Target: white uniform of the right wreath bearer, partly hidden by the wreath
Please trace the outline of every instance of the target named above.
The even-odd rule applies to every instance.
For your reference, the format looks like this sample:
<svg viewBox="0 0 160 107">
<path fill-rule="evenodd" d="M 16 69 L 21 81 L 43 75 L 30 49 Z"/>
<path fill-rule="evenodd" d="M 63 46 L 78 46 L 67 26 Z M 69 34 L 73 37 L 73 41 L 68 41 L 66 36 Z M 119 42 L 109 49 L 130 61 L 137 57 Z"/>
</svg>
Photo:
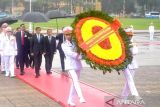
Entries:
<svg viewBox="0 0 160 107">
<path fill-rule="evenodd" d="M 133 60 L 131 64 L 129 64 L 127 68 L 124 70 L 126 83 L 125 83 L 124 89 L 121 94 L 123 98 L 127 98 L 130 92 L 131 92 L 131 95 L 133 96 L 139 96 L 135 83 L 134 83 L 134 79 L 133 79 L 135 69 L 138 68 L 138 64 L 135 60 L 135 55 L 138 53 L 138 47 L 136 46 L 136 44 L 133 44 L 133 47 L 131 48 L 131 52 L 133 55 Z"/>
</svg>

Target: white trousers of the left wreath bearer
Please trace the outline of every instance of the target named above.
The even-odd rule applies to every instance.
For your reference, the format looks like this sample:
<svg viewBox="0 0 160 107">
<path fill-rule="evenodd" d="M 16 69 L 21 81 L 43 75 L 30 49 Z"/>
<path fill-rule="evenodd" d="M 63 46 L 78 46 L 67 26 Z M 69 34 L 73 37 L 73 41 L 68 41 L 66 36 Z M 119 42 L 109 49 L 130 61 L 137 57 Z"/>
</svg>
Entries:
<svg viewBox="0 0 160 107">
<path fill-rule="evenodd" d="M 70 93 L 69 93 L 69 97 L 68 97 L 68 101 L 72 101 L 73 100 L 73 96 L 75 94 L 75 92 L 77 92 L 77 95 L 79 98 L 83 98 L 82 95 L 82 91 L 80 88 L 80 84 L 79 84 L 79 77 L 80 77 L 80 70 L 79 71 L 75 71 L 75 70 L 69 70 L 70 76 L 72 78 L 72 84 L 70 87 Z"/>
</svg>

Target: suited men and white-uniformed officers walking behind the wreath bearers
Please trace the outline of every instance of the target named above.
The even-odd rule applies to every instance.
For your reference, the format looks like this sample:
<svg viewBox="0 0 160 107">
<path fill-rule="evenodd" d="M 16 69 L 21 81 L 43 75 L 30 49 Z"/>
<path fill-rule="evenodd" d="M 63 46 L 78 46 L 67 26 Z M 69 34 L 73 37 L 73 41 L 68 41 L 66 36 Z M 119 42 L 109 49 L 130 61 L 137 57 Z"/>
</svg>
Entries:
<svg viewBox="0 0 160 107">
<path fill-rule="evenodd" d="M 10 38 L 11 36 L 11 38 Z M 12 44 L 14 39 L 14 44 Z M 56 45 L 56 40 L 58 40 L 58 45 Z M 7 42 L 8 44 L 7 44 Z M 41 28 L 36 27 L 35 33 L 31 34 L 25 29 L 25 25 L 21 24 L 20 27 L 17 28 L 15 32 L 13 29 L 8 26 L 7 23 L 2 24 L 1 33 L 0 33 L 0 52 L 1 52 L 1 71 L 13 71 L 8 70 L 7 66 L 14 66 L 14 64 L 6 63 L 5 58 L 3 57 L 6 53 L 13 54 L 13 60 L 16 62 L 16 67 L 20 69 L 20 75 L 24 75 L 24 67 L 32 67 L 35 68 L 35 77 L 38 78 L 40 76 L 40 66 L 42 62 L 42 55 L 45 57 L 45 69 L 47 74 L 52 74 L 52 61 L 54 54 L 56 53 L 56 49 L 59 50 L 62 71 L 65 71 L 64 68 L 64 52 L 61 48 L 61 44 L 64 41 L 63 33 L 56 34 L 52 31 L 52 29 L 47 29 L 46 35 L 44 36 L 41 33 Z M 9 46 L 11 45 L 11 46 Z M 13 47 L 15 46 L 15 47 Z M 14 49 L 8 49 L 13 47 Z M 14 50 L 14 52 L 12 52 Z M 16 56 L 16 57 L 15 57 Z M 14 73 L 5 73 L 6 76 L 14 77 Z"/>
</svg>

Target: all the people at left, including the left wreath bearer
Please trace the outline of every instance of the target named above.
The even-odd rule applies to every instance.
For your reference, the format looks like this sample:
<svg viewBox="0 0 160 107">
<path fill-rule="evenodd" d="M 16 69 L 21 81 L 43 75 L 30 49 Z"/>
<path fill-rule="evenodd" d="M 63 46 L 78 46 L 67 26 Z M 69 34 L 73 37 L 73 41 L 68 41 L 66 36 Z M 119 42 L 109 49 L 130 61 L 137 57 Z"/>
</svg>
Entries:
<svg viewBox="0 0 160 107">
<path fill-rule="evenodd" d="M 62 72 L 68 71 L 73 80 L 68 104 L 75 106 L 73 101 L 75 92 L 77 92 L 80 103 L 85 103 L 78 82 L 82 69 L 82 57 L 72 42 L 72 30 L 70 26 L 64 27 L 63 33 L 56 35 L 52 29 L 47 29 L 44 36 L 40 27 L 36 27 L 35 33 L 31 34 L 25 29 L 24 24 L 21 24 L 16 32 L 13 32 L 7 23 L 2 24 L 0 32 L 1 71 L 5 72 L 5 76 L 14 77 L 14 62 L 16 62 L 16 67 L 20 67 L 20 75 L 25 74 L 24 66 L 30 66 L 35 68 L 35 78 L 38 78 L 42 55 L 44 55 L 46 73 L 52 74 L 52 61 L 56 49 L 58 49 Z M 58 44 L 56 44 L 56 40 L 58 40 Z"/>
</svg>

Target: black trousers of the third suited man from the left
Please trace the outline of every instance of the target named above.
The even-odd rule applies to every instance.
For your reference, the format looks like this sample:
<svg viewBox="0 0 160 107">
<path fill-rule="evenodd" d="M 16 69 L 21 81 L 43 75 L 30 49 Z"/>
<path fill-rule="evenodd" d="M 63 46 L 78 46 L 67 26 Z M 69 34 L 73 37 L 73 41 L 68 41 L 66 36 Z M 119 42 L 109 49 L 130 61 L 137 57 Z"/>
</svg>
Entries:
<svg viewBox="0 0 160 107">
<path fill-rule="evenodd" d="M 52 61 L 53 61 L 54 54 L 47 53 L 44 55 L 44 57 L 45 57 L 46 72 L 50 72 L 52 68 Z"/>
</svg>

